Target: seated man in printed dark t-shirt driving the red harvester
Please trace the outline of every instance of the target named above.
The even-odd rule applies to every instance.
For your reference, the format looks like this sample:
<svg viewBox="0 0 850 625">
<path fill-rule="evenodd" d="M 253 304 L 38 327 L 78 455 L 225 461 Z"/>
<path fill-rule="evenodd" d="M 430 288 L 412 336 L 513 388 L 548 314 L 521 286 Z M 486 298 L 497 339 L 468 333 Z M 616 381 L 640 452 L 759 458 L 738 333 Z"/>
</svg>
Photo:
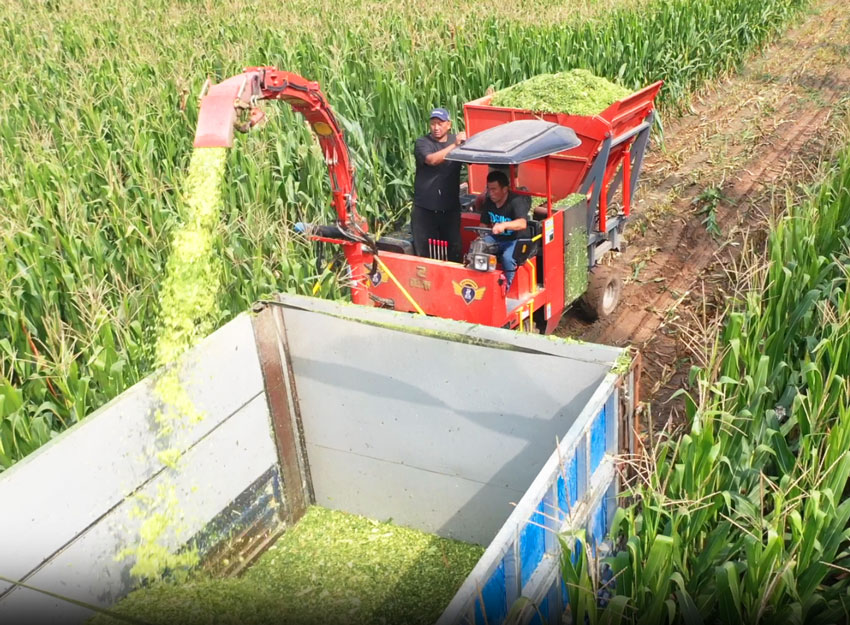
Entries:
<svg viewBox="0 0 850 625">
<path fill-rule="evenodd" d="M 475 207 L 481 212 L 481 224 L 492 226 L 493 234 L 488 234 L 484 240 L 498 246 L 497 254 L 505 272 L 507 293 L 516 275 L 514 248 L 517 232 L 528 226 L 528 198 L 510 190 L 505 172 L 491 171 L 487 174 L 487 193 L 476 198 Z"/>
</svg>

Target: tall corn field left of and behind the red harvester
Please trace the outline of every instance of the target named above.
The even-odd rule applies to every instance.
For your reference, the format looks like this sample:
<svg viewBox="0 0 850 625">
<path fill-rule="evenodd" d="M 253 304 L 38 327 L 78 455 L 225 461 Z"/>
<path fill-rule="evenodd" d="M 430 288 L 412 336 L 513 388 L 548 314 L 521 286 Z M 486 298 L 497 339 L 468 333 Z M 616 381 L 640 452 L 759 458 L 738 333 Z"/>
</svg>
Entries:
<svg viewBox="0 0 850 625">
<path fill-rule="evenodd" d="M 320 81 L 347 133 L 360 210 L 380 229 L 406 219 L 412 144 L 432 106 L 459 115 L 490 86 L 580 67 L 630 88 L 664 79 L 673 113 L 804 4 L 3 3 L 0 470 L 153 368 L 207 77 L 276 64 Z M 227 155 L 221 284 L 208 285 L 216 323 L 275 291 L 342 295 L 291 234 L 330 217 L 321 157 L 289 111 L 269 113 Z"/>
</svg>

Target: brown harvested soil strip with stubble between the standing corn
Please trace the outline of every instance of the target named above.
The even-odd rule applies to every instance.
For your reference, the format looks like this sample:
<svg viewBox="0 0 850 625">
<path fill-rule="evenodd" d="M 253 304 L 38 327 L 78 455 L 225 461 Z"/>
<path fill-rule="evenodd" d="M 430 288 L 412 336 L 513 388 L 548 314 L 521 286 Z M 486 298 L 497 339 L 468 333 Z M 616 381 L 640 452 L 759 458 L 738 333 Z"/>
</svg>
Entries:
<svg viewBox="0 0 850 625">
<path fill-rule="evenodd" d="M 608 262 L 625 286 L 618 308 L 587 322 L 567 313 L 558 335 L 632 345 L 641 401 L 656 428 L 681 422 L 692 364 L 722 315 L 741 250 L 758 250 L 790 190 L 816 182 L 847 138 L 850 11 L 821 0 L 741 70 L 665 124 L 641 174 L 627 249 Z M 609 255 L 611 256 L 611 255 Z"/>
</svg>

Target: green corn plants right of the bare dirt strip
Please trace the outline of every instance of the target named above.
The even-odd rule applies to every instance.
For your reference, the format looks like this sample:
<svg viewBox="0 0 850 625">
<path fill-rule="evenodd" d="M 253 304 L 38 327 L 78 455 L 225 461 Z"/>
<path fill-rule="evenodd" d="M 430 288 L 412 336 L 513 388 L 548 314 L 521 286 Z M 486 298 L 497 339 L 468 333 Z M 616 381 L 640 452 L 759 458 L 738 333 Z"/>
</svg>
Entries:
<svg viewBox="0 0 850 625">
<path fill-rule="evenodd" d="M 605 618 L 838 623 L 850 610 L 850 152 L 742 273 L 688 432 L 641 467 Z M 565 543 L 565 546 L 569 546 Z M 563 561 L 573 622 L 596 623 L 585 554 Z M 572 597 L 571 597 L 572 598 Z"/>
</svg>

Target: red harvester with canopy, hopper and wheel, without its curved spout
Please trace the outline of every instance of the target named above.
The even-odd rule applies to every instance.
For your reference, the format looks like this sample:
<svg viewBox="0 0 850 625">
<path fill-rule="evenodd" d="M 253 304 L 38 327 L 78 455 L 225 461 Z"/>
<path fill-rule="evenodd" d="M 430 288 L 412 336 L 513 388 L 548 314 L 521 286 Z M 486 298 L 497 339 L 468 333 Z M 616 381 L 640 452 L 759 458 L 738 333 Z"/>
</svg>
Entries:
<svg viewBox="0 0 850 625">
<path fill-rule="evenodd" d="M 611 251 L 625 250 L 623 234 L 662 84 L 648 85 L 598 115 L 497 107 L 490 104 L 492 95 L 464 104 L 469 139 L 446 156 L 469 165 L 461 200 L 466 207 L 461 213 L 464 254 L 481 221 L 471 203 L 486 190 L 491 169 L 504 167 L 511 192 L 530 200 L 511 289 L 502 292 L 501 272 L 492 264 L 446 262 L 440 253 L 445 242 L 437 241 L 437 253 L 429 251 L 429 258 L 421 259 L 412 256 L 408 241 L 385 238 L 377 245 L 379 277 L 365 283 L 371 303 L 544 334 L 554 332 L 564 312 L 579 301 L 591 319 L 610 315 L 622 279 L 601 261 Z M 552 141 L 549 135 L 558 129 L 569 131 L 574 140 Z M 575 196 L 581 197 L 568 201 Z M 377 255 L 367 252 L 364 261 L 377 262 Z M 464 286 L 474 298 L 464 297 Z"/>
</svg>

